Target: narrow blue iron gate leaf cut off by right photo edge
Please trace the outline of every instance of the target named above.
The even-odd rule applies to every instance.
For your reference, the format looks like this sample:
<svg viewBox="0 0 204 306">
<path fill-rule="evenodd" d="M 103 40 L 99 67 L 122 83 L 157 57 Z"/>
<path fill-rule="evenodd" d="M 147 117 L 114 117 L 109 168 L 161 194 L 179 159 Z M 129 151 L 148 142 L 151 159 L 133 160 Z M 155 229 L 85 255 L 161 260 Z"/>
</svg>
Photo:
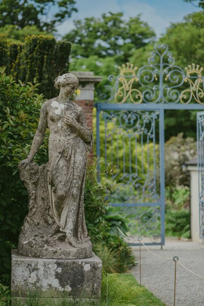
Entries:
<svg viewBox="0 0 204 306">
<path fill-rule="evenodd" d="M 197 161 L 200 238 L 204 239 L 204 111 L 197 113 Z"/>
</svg>

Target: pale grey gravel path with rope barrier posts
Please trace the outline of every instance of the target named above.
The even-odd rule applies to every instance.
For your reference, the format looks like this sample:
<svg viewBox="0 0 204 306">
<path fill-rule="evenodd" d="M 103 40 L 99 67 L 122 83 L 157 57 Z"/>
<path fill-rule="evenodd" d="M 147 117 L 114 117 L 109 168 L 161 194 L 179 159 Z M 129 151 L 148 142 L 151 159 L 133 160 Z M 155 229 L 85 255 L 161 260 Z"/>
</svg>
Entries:
<svg viewBox="0 0 204 306">
<path fill-rule="evenodd" d="M 193 272 L 204 276 L 204 244 L 166 239 L 165 246 L 150 246 L 160 257 L 178 256 L 180 262 Z M 133 247 L 139 263 L 139 247 Z M 173 306 L 174 262 L 164 261 L 150 254 L 143 246 L 141 251 L 142 285 L 168 306 Z M 139 282 L 139 265 L 131 273 Z M 204 279 L 186 271 L 177 264 L 176 306 L 204 306 Z"/>
</svg>

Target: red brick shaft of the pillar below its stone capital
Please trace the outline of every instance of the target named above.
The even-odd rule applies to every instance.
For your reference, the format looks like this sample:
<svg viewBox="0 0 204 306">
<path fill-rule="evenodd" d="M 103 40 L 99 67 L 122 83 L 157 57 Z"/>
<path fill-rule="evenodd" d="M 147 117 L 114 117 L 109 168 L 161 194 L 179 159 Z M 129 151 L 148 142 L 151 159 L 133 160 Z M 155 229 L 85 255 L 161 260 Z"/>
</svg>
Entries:
<svg viewBox="0 0 204 306">
<path fill-rule="evenodd" d="M 86 124 L 93 131 L 93 100 L 75 100 L 74 102 L 82 107 L 86 117 Z M 93 151 L 89 153 L 88 159 L 93 161 Z"/>
</svg>

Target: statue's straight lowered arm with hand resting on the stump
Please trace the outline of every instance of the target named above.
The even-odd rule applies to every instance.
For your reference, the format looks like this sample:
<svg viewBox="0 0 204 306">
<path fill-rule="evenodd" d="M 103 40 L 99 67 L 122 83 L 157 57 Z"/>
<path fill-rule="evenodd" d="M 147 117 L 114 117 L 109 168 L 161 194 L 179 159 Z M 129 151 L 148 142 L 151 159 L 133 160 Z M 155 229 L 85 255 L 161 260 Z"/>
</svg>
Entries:
<svg viewBox="0 0 204 306">
<path fill-rule="evenodd" d="M 32 162 L 34 156 L 36 155 L 39 147 L 41 146 L 41 144 L 43 142 L 46 128 L 47 128 L 47 110 L 46 110 L 46 104 L 44 103 L 42 105 L 42 108 L 41 108 L 40 119 L 39 119 L 39 123 L 38 123 L 38 129 L 37 129 L 37 131 L 35 133 L 35 136 L 33 138 L 30 153 L 29 153 L 27 159 L 20 162 L 20 164 L 19 164 L 20 166 L 23 165 L 23 164 L 25 166 L 28 163 Z"/>
</svg>

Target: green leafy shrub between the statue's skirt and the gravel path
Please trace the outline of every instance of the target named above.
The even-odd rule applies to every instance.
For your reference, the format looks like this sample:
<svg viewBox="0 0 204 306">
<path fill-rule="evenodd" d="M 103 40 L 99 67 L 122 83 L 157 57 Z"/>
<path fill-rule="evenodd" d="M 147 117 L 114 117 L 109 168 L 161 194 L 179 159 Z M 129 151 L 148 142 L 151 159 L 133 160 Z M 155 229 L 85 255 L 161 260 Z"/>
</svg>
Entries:
<svg viewBox="0 0 204 306">
<path fill-rule="evenodd" d="M 112 168 L 105 170 L 108 174 Z M 115 183 L 98 183 L 96 163 L 89 165 L 85 185 L 84 205 L 88 234 L 93 249 L 107 272 L 123 273 L 135 265 L 131 247 L 118 237 L 117 227 L 127 231 L 125 219 L 108 206 L 107 193 L 115 190 Z"/>
</svg>

